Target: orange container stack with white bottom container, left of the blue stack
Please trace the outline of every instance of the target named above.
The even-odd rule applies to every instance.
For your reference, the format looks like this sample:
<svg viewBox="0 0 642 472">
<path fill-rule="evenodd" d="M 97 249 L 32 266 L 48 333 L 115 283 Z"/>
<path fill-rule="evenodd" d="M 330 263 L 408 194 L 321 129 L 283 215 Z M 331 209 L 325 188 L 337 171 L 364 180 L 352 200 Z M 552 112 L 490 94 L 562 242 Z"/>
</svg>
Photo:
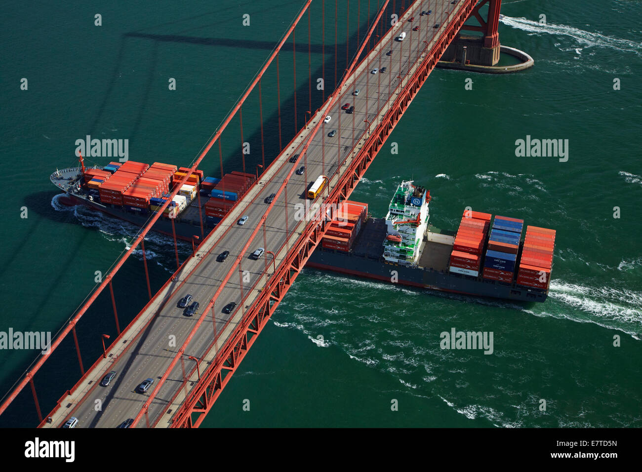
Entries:
<svg viewBox="0 0 642 472">
<path fill-rule="evenodd" d="M 450 254 L 450 272 L 478 277 L 490 217 L 490 213 L 464 211 Z"/>
</svg>

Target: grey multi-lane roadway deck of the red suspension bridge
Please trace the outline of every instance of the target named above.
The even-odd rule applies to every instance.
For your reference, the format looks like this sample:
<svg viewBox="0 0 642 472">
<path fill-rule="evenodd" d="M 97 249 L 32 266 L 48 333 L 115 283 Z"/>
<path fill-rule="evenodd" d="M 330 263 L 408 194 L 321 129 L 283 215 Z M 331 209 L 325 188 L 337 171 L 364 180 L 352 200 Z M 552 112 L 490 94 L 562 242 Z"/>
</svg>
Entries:
<svg viewBox="0 0 642 472">
<path fill-rule="evenodd" d="M 309 184 L 318 175 L 324 173 L 331 179 L 331 186 L 336 185 L 338 180 L 337 167 L 340 162 L 340 173 L 351 162 L 351 159 L 360 150 L 368 134 L 368 123 L 372 123 L 372 129 L 377 122 L 377 103 L 381 105 L 379 116 L 383 116 L 392 103 L 392 94 L 399 84 L 398 76 L 408 73 L 412 76 L 413 66 L 417 56 L 426 46 L 424 40 L 429 42 L 428 50 L 433 46 L 438 33 L 444 28 L 433 28 L 435 23 L 443 25 L 447 22 L 448 15 L 444 10 L 451 10 L 451 16 L 458 11 L 461 2 L 452 5 L 449 0 L 424 0 L 417 1 L 413 7 L 399 19 L 399 22 L 383 37 L 377 47 L 369 55 L 369 60 L 362 62 L 355 73 L 349 78 L 345 86 L 339 92 L 340 98 L 336 100 L 329 115 L 331 121 L 324 123 L 311 141 L 307 155 L 307 181 L 305 175 L 293 174 L 288 183 L 287 206 L 284 195 L 275 202 L 266 220 L 266 245 L 263 243 L 263 231 L 257 232 L 247 254 L 241 254 L 241 268 L 248 271 L 248 279 L 243 282 L 243 294 L 247 297 L 241 306 L 241 286 L 238 275 L 232 275 L 230 280 L 221 290 L 218 300 L 214 304 L 216 316 L 216 329 L 223 328 L 219 341 L 214 344 L 213 323 L 206 320 L 184 354 L 184 362 L 178 362 L 168 380 L 162 385 L 159 394 L 150 405 L 148 418 L 150 426 L 168 427 L 171 424 L 171 417 L 175 414 L 178 406 L 186 397 L 189 389 L 195 385 L 197 372 L 195 362 L 188 360 L 187 355 L 203 358 L 200 363 L 200 372 L 203 372 L 209 362 L 212 362 L 218 349 L 225 344 L 225 340 L 232 333 L 234 328 L 243 317 L 243 313 L 259 293 L 259 289 L 265 286 L 266 276 L 261 275 L 265 269 L 266 262 L 272 265 L 272 258 L 265 254 L 259 260 L 249 258 L 250 253 L 257 247 L 265 247 L 276 254 L 276 264 L 286 256 L 288 247 L 299 238 L 305 221 L 296 221 L 295 213 L 297 204 L 304 204 L 305 194 Z M 422 10 L 432 10 L 431 15 L 420 15 Z M 442 14 L 440 14 L 442 13 Z M 415 17 L 409 22 L 410 17 Z M 412 31 L 412 28 L 419 26 L 419 31 Z M 402 41 L 394 40 L 401 31 L 406 32 L 406 38 Z M 392 55 L 386 53 L 392 49 Z M 419 60 L 421 62 L 421 59 Z M 377 67 L 387 67 L 385 73 L 372 74 L 370 71 Z M 410 71 L 408 68 L 412 67 Z M 354 83 L 351 79 L 354 77 Z M 403 79 L 402 79 L 403 80 Z M 367 85 L 367 82 L 369 85 Z M 403 84 L 402 84 L 403 85 Z M 354 89 L 360 89 L 358 96 L 352 96 Z M 377 89 L 380 94 L 377 97 Z M 367 94 L 367 91 L 369 92 Z M 377 98 L 379 100 L 377 100 Z M 330 100 L 331 97 L 328 98 Z M 353 116 L 341 110 L 343 103 L 349 102 L 354 105 L 354 128 Z M 327 103 L 327 102 L 326 102 Z M 367 105 L 366 105 L 367 103 Z M 322 107 L 320 110 L 324 110 Z M 339 118 L 341 114 L 341 127 Z M 216 292 L 218 286 L 229 272 L 230 265 L 234 258 L 239 256 L 239 251 L 252 233 L 259 225 L 261 217 L 265 214 L 268 205 L 264 199 L 271 193 L 275 193 L 281 186 L 288 171 L 292 166 L 303 165 L 304 156 L 300 156 L 299 164 L 291 164 L 288 160 L 297 153 L 307 139 L 310 130 L 319 119 L 323 119 L 322 111 L 312 117 L 306 127 L 300 131 L 297 138 L 290 143 L 290 146 L 283 150 L 263 175 L 259 184 L 254 186 L 247 195 L 232 210 L 231 214 L 210 234 L 202 243 L 196 256 L 184 265 L 177 278 L 166 288 L 160 290 L 155 299 L 150 303 L 145 313 L 137 320 L 130 332 L 125 333 L 118 345 L 110 346 L 108 357 L 100 360 L 87 374 L 85 379 L 76 386 L 76 389 L 62 399 L 60 408 L 52 416 L 53 421 L 45 424 L 45 427 L 60 427 L 65 420 L 71 416 L 78 418 L 77 427 L 103 427 L 113 428 L 128 418 L 134 418 L 140 411 L 148 394 L 156 386 L 150 387 L 147 394 L 139 394 L 135 391 L 146 378 L 159 380 L 171 360 L 175 356 L 178 347 L 182 345 L 189 331 L 198 319 L 185 317 L 183 310 L 177 308 L 178 300 L 190 293 L 195 301 L 200 302 L 204 307 L 211 296 Z M 334 137 L 328 137 L 330 130 L 338 132 Z M 340 133 L 339 133 L 340 130 Z M 354 141 L 353 141 L 354 140 Z M 354 147 L 352 144 L 354 143 Z M 325 152 L 325 166 L 322 164 L 322 155 Z M 322 195 L 325 194 L 325 191 Z M 322 197 L 318 197 L 320 202 Z M 283 231 L 286 226 L 286 212 L 288 212 L 288 226 L 291 231 L 290 238 L 286 241 L 286 233 Z M 238 225 L 238 219 L 248 216 L 245 225 Z M 223 263 L 216 261 L 216 256 L 224 250 L 230 251 L 230 256 Z M 268 258 L 267 261 L 265 258 Z M 237 269 L 238 272 L 238 269 Z M 272 272 L 272 268 L 268 273 Z M 248 290 L 252 287 L 248 295 Z M 228 302 L 236 302 L 236 309 L 229 315 L 222 313 L 223 306 Z M 211 317 L 211 313 L 207 313 Z M 175 337 L 175 343 L 170 344 L 171 337 Z M 108 387 L 98 385 L 101 378 L 109 371 L 117 371 L 116 378 Z M 187 382 L 184 384 L 184 376 Z M 97 400 L 100 400 L 100 408 Z M 96 411 L 98 409 L 98 411 Z M 144 419 L 137 424 L 138 427 L 145 427 Z"/>
</svg>

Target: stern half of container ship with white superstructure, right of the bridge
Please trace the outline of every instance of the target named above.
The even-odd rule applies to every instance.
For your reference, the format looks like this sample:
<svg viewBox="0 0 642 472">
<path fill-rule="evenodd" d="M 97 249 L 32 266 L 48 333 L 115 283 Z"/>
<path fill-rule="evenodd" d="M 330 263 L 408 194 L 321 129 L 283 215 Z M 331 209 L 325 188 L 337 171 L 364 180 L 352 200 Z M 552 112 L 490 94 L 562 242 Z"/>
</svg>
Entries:
<svg viewBox="0 0 642 472">
<path fill-rule="evenodd" d="M 546 300 L 555 230 L 465 209 L 457 231 L 446 231 L 429 224 L 429 201 L 430 192 L 413 182 L 399 184 L 385 218 L 345 200 L 306 267 L 476 297 Z"/>
</svg>

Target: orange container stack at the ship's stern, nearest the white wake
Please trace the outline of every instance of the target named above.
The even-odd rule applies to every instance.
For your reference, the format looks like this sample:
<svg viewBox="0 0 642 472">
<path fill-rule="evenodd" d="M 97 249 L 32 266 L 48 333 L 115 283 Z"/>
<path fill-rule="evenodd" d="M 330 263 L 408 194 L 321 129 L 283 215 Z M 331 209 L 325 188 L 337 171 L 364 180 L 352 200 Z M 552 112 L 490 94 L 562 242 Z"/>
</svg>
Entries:
<svg viewBox="0 0 642 472">
<path fill-rule="evenodd" d="M 524 248 L 519 259 L 517 284 L 548 290 L 554 248 L 554 229 L 527 226 Z"/>
</svg>

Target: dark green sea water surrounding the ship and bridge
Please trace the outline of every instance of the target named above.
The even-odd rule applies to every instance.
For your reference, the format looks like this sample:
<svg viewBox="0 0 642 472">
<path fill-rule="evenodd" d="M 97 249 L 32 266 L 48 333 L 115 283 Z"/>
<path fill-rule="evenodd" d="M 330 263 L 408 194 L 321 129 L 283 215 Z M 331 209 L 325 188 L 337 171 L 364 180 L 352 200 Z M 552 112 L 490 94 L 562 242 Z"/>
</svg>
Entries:
<svg viewBox="0 0 642 472">
<path fill-rule="evenodd" d="M 128 139 L 134 161 L 190 164 L 301 5 L 4 5 L 0 331 L 56 333 L 96 286 L 96 271 L 105 274 L 136 234 L 58 202 L 49 174 L 74 165 L 76 139 Z M 321 47 L 321 2 L 312 8 L 309 102 L 307 17 L 295 32 L 298 127 L 308 104 L 322 103 L 314 81 L 323 60 L 325 96 L 334 83 L 334 46 Z M 203 426 L 641 426 L 642 6 L 507 0 L 501 11 L 501 43 L 532 55 L 535 66 L 507 75 L 433 71 L 351 198 L 381 217 L 397 184 L 413 179 L 431 191 L 436 227 L 456 229 L 471 206 L 556 229 L 548 300 L 479 300 L 305 269 Z M 96 13 L 102 26 L 94 25 Z M 339 76 L 346 50 L 349 58 L 356 50 L 357 25 L 361 36 L 367 27 L 367 1 L 351 1 L 348 21 L 340 20 Z M 297 129 L 292 64 L 290 40 L 279 64 L 284 143 Z M 266 162 L 278 151 L 275 83 L 272 68 L 262 80 Z M 243 141 L 252 144 L 248 171 L 263 161 L 258 109 L 253 93 L 243 107 L 243 139 L 238 116 L 223 135 L 225 171 L 241 170 Z M 527 135 L 568 139 L 568 161 L 516 157 L 516 140 Z M 201 167 L 218 175 L 218 149 Z M 157 289 L 175 270 L 173 245 L 152 235 L 146 249 Z M 179 243 L 181 260 L 190 249 Z M 122 327 L 147 300 L 139 252 L 114 290 Z M 85 316 L 78 338 L 89 367 L 102 352 L 101 334 L 115 337 L 108 293 Z M 440 349 L 440 333 L 451 328 L 492 331 L 494 352 Z M 3 394 L 35 357 L 0 351 Z M 43 413 L 78 378 L 69 339 L 35 377 Z M 16 405 L 0 425 L 37 424 L 29 388 Z"/>
</svg>

